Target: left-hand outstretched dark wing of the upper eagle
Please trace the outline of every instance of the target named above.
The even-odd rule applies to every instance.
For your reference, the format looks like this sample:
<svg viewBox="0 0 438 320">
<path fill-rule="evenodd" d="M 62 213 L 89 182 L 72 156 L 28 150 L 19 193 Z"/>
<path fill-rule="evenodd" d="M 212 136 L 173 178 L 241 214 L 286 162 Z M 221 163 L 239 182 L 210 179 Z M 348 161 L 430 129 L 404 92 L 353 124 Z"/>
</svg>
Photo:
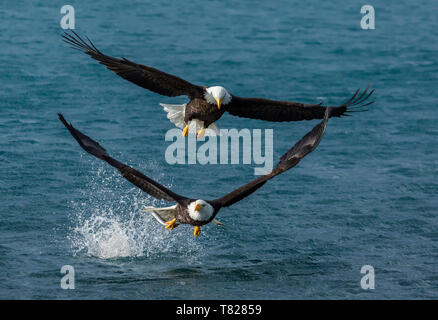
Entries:
<svg viewBox="0 0 438 320">
<path fill-rule="evenodd" d="M 191 84 L 174 75 L 149 66 L 137 64 L 125 58 L 118 59 L 107 56 L 100 52 L 90 39 L 87 38 L 89 42 L 87 43 L 73 30 L 72 33 L 73 35 L 65 32 L 62 35 L 66 43 L 74 49 L 85 52 L 109 70 L 114 71 L 117 75 L 140 87 L 168 97 L 186 95 L 194 98 L 203 96 L 204 89 L 201 86 Z"/>
</svg>

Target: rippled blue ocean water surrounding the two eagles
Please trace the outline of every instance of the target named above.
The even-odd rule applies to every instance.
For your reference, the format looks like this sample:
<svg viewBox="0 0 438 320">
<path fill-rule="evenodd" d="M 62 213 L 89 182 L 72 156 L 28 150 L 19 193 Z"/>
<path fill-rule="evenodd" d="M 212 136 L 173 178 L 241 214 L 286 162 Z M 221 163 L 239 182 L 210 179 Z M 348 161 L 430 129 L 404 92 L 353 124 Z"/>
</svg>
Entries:
<svg viewBox="0 0 438 320">
<path fill-rule="evenodd" d="M 160 102 L 61 41 L 64 1 L 0 4 L 0 298 L 396 299 L 438 297 L 438 5 L 432 1 L 74 1 L 103 52 L 240 96 L 337 104 L 296 168 L 221 211 L 225 227 L 164 230 L 162 203 L 85 154 L 57 112 L 178 193 L 215 198 L 254 165 L 169 165 Z M 360 28 L 371 4 L 376 29 Z M 274 159 L 318 121 L 224 115 L 274 129 Z M 60 269 L 75 268 L 63 290 Z M 375 289 L 360 286 L 361 267 Z"/>
</svg>

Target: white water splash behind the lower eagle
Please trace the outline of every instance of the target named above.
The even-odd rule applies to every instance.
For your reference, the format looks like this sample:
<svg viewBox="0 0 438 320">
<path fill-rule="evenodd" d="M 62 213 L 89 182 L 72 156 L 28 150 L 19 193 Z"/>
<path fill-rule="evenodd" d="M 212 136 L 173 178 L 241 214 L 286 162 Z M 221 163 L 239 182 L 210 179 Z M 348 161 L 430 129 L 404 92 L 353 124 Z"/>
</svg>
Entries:
<svg viewBox="0 0 438 320">
<path fill-rule="evenodd" d="M 74 254 L 112 259 L 176 253 L 199 255 L 202 244 L 184 226 L 164 230 L 143 206 L 159 205 L 111 168 L 99 167 L 81 190 L 84 202 L 72 202 L 68 239 Z"/>
</svg>

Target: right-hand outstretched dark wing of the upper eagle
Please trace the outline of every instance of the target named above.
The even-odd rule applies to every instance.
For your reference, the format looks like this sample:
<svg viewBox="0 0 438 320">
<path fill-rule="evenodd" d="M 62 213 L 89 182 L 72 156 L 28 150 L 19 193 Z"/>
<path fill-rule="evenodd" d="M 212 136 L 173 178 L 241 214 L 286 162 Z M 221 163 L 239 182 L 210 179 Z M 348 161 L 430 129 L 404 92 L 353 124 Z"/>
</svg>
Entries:
<svg viewBox="0 0 438 320">
<path fill-rule="evenodd" d="M 358 112 L 364 106 L 374 101 L 366 102 L 374 90 L 368 93 L 367 88 L 362 94 L 359 89 L 346 102 L 337 107 L 332 107 L 331 117 L 348 115 L 349 112 Z M 260 119 L 268 121 L 301 121 L 324 118 L 327 107 L 320 104 L 303 104 L 299 102 L 275 101 L 259 98 L 241 98 L 232 96 L 231 102 L 224 106 L 230 114 L 238 117 Z"/>
</svg>

